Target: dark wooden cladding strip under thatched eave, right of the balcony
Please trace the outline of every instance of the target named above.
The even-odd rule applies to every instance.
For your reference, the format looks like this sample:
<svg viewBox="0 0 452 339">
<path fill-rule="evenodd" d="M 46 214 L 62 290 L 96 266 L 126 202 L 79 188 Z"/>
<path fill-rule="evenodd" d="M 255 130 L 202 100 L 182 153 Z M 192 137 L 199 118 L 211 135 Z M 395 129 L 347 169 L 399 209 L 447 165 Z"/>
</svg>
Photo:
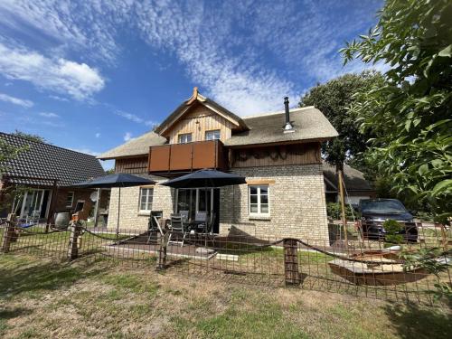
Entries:
<svg viewBox="0 0 452 339">
<path fill-rule="evenodd" d="M 231 167 L 320 164 L 320 143 L 230 149 Z"/>
</svg>

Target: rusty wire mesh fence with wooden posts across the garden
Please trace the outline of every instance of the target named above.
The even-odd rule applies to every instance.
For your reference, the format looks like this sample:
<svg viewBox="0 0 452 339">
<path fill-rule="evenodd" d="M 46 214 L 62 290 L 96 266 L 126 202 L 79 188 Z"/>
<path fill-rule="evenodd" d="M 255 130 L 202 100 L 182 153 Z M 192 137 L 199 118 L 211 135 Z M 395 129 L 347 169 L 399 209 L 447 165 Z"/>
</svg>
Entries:
<svg viewBox="0 0 452 339">
<path fill-rule="evenodd" d="M 448 246 L 452 235 L 450 229 L 435 225 L 418 224 L 417 228 L 417 241 L 394 245 L 357 236 L 353 227 L 345 242 L 340 236 L 329 240 L 258 239 L 87 228 L 80 223 L 67 230 L 43 224 L 24 229 L 5 223 L 0 228 L 0 243 L 3 252 L 60 261 L 100 258 L 199 278 L 431 303 L 431 291 L 438 284 L 451 286 L 452 252 Z M 413 256 L 430 267 L 419 266 L 410 259 Z"/>
</svg>

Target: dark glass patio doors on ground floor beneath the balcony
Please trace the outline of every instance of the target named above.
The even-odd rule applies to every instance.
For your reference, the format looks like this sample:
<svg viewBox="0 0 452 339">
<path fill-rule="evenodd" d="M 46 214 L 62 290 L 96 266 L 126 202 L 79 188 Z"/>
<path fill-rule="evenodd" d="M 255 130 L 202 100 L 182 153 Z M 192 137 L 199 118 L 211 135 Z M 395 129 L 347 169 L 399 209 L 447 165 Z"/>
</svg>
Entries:
<svg viewBox="0 0 452 339">
<path fill-rule="evenodd" d="M 215 213 L 213 232 L 218 233 L 220 218 L 220 190 L 218 188 L 182 188 L 176 190 L 176 211 L 188 211 L 189 218 L 195 219 L 196 212 Z"/>
</svg>

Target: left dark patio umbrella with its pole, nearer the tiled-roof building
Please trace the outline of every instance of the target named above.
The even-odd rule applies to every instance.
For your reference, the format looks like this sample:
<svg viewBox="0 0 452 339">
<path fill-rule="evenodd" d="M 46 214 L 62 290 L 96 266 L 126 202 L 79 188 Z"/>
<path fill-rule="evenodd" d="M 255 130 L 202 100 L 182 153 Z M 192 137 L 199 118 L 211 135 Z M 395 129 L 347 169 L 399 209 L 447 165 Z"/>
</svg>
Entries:
<svg viewBox="0 0 452 339">
<path fill-rule="evenodd" d="M 155 184 L 155 181 L 142 178 L 132 174 L 108 174 L 97 178 L 87 180 L 82 183 L 73 184 L 72 187 L 78 188 L 119 188 L 118 194 L 118 222 L 117 234 L 119 233 L 119 213 L 121 210 L 121 187 L 134 187 L 142 184 Z"/>
</svg>

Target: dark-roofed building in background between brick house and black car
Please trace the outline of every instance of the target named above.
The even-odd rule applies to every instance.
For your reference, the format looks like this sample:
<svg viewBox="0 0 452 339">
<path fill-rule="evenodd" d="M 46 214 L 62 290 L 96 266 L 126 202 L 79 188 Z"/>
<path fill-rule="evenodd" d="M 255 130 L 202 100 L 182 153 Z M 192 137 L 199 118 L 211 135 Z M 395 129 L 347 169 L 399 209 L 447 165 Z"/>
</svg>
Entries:
<svg viewBox="0 0 452 339">
<path fill-rule="evenodd" d="M 324 162 L 326 202 L 339 202 L 337 174 L 335 166 Z M 375 198 L 375 190 L 364 178 L 363 172 L 344 165 L 345 202 L 353 206 L 358 205 L 361 199 Z"/>
</svg>

